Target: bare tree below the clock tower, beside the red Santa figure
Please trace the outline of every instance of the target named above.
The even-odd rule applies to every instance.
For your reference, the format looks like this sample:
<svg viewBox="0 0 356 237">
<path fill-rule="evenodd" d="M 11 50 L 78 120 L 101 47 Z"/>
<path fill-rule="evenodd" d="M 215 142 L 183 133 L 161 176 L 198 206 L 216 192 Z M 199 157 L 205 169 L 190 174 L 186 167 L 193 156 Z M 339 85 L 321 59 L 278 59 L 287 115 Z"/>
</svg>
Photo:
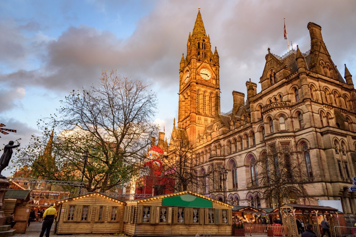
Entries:
<svg viewBox="0 0 356 237">
<path fill-rule="evenodd" d="M 185 130 L 174 128 L 167 156 L 163 157 L 162 162 L 162 178 L 173 181 L 174 185 L 169 184 L 169 188 L 174 192 L 205 189 L 206 180 L 211 177 L 213 170 L 200 173 L 195 151 L 195 142 L 189 140 Z"/>
</svg>

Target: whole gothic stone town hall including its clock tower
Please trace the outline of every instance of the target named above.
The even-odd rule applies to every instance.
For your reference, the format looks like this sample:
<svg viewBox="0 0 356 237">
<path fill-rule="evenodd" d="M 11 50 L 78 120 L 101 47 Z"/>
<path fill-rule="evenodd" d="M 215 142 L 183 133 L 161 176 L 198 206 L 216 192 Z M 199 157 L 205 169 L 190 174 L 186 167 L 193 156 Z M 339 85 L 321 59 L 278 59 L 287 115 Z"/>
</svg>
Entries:
<svg viewBox="0 0 356 237">
<path fill-rule="evenodd" d="M 321 27 L 313 22 L 307 27 L 310 50 L 301 53 L 297 47 L 280 57 L 268 49 L 261 92 L 247 81 L 246 102 L 244 93 L 232 91 L 233 108 L 221 113 L 219 55 L 216 47 L 211 51 L 199 11 L 187 55 L 180 61 L 178 126 L 173 132 L 186 131 L 197 142 L 200 172 L 227 168 L 227 198 L 237 205 L 276 207 L 275 200 L 261 200 L 253 189 L 258 175 L 253 164 L 269 144 L 288 145 L 307 167 L 305 187 L 315 200 L 305 204 L 341 200 L 345 214 L 351 215 L 356 210 L 355 194 L 348 191 L 356 176 L 356 91 L 346 65 L 342 78 L 331 60 Z M 198 191 L 223 200 L 219 182 L 206 181 L 206 188 Z"/>
</svg>

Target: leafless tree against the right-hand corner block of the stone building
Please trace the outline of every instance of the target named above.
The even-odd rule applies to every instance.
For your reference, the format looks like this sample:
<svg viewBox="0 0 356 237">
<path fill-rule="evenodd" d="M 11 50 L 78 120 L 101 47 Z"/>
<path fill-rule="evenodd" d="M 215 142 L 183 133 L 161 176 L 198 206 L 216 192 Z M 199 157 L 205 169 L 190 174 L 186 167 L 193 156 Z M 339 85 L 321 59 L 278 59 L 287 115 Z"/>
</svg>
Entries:
<svg viewBox="0 0 356 237">
<path fill-rule="evenodd" d="M 256 172 L 252 174 L 256 178 L 252 182 L 260 198 L 268 202 L 276 200 L 278 206 L 286 199 L 310 198 L 304 187 L 308 181 L 306 164 L 289 145 L 268 145 L 254 165 L 251 172 Z"/>
</svg>

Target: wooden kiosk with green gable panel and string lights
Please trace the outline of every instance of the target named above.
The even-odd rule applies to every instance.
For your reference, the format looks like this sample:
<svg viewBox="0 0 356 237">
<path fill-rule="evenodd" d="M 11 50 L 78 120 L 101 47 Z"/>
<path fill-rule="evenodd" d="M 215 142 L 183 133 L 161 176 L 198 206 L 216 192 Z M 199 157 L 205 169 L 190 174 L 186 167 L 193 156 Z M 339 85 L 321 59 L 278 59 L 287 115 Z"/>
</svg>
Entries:
<svg viewBox="0 0 356 237">
<path fill-rule="evenodd" d="M 231 236 L 231 208 L 191 191 L 128 201 L 123 232 L 138 236 Z"/>
</svg>

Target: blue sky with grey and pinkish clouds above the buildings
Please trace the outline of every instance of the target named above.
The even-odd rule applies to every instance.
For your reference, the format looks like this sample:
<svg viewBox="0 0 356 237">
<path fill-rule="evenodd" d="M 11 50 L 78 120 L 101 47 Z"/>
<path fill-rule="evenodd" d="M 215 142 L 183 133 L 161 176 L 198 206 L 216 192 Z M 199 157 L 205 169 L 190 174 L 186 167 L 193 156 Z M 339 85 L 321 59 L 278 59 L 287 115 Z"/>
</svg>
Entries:
<svg viewBox="0 0 356 237">
<path fill-rule="evenodd" d="M 169 138 L 179 62 L 198 7 L 220 56 L 221 112 L 232 108 L 233 90 L 246 94 L 249 78 L 260 91 L 267 48 L 287 53 L 283 18 L 294 48 L 310 49 L 307 24 L 314 22 L 341 75 L 344 64 L 356 74 L 354 0 L 0 0 L 0 123 L 17 130 L 0 134 L 1 146 L 18 138 L 25 146 L 38 119 L 55 113 L 70 91 L 97 84 L 102 70 L 150 85 L 156 123 Z"/>
</svg>

